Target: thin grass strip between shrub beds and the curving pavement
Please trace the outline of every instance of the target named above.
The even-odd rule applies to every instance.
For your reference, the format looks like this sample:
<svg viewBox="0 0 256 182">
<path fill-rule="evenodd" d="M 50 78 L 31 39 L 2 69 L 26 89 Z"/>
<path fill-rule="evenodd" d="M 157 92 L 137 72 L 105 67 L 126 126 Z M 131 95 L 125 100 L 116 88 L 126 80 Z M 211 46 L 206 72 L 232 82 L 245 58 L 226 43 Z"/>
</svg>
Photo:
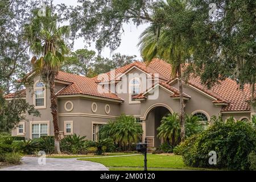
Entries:
<svg viewBox="0 0 256 182">
<path fill-rule="evenodd" d="M 118 155 L 133 155 L 137 153 L 107 153 L 105 155 L 48 155 L 47 158 L 60 158 L 60 159 L 67 159 L 67 158 L 92 158 L 92 157 L 100 157 L 100 156 L 118 156 Z"/>
</svg>

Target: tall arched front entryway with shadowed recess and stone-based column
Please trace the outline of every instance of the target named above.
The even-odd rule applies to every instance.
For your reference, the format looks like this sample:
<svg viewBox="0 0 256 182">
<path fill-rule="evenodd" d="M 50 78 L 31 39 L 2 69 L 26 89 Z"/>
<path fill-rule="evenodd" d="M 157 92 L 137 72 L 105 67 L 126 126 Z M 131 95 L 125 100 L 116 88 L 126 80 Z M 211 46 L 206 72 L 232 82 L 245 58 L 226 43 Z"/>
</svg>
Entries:
<svg viewBox="0 0 256 182">
<path fill-rule="evenodd" d="M 157 129 L 160 126 L 160 121 L 162 118 L 167 114 L 172 113 L 172 109 L 166 105 L 155 105 L 147 110 L 145 113 L 145 137 L 148 142 L 148 147 L 158 147 L 160 145 L 161 140 L 157 137 Z"/>
</svg>

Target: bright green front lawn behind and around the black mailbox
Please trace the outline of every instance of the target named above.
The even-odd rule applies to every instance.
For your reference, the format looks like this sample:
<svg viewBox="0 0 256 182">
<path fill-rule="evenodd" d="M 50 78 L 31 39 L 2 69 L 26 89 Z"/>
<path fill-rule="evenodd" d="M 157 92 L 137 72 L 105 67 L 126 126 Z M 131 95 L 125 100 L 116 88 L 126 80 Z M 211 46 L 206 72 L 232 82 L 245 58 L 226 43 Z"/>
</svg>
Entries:
<svg viewBox="0 0 256 182">
<path fill-rule="evenodd" d="M 110 170 L 143 170 L 143 155 L 135 156 L 118 156 L 111 158 L 80 158 L 77 160 L 88 160 L 92 162 L 101 163 Z M 175 170 L 175 169 L 201 169 L 202 168 L 191 168 L 185 166 L 181 156 L 179 155 L 157 155 L 148 154 L 147 155 L 147 167 L 152 170 Z M 209 170 L 209 169 L 208 169 Z"/>
</svg>

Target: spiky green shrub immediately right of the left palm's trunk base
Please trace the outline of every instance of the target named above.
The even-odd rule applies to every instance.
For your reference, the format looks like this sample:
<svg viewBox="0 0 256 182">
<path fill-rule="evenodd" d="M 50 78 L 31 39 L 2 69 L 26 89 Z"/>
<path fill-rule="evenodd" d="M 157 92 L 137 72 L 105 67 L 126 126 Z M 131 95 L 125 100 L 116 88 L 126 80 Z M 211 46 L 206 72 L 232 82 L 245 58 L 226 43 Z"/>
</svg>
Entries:
<svg viewBox="0 0 256 182">
<path fill-rule="evenodd" d="M 69 154 L 85 154 L 86 153 L 86 145 L 85 138 L 80 137 L 80 135 L 67 135 L 60 141 L 61 151 L 67 152 Z"/>
</svg>

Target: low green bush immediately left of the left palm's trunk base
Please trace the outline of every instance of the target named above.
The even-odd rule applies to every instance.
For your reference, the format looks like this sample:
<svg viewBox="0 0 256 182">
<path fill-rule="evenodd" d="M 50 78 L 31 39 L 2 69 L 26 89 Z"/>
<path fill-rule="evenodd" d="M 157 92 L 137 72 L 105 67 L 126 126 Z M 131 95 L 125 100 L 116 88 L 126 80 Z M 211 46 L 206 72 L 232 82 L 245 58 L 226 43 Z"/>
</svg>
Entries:
<svg viewBox="0 0 256 182">
<path fill-rule="evenodd" d="M 39 150 L 52 154 L 54 152 L 54 136 L 42 136 L 38 139 Z"/>
</svg>

